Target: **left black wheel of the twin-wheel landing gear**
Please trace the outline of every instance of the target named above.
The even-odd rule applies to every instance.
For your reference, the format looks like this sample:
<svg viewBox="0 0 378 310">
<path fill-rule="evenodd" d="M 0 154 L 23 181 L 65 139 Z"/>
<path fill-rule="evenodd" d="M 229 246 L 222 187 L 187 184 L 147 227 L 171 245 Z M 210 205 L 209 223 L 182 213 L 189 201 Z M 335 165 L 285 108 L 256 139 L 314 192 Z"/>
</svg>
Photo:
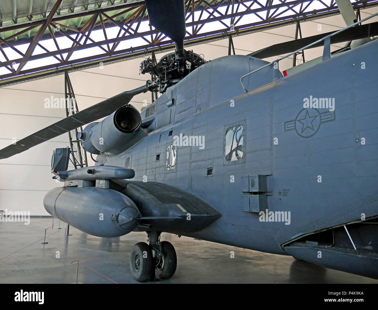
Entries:
<svg viewBox="0 0 378 310">
<path fill-rule="evenodd" d="M 152 252 L 147 243 L 138 242 L 134 245 L 130 255 L 130 271 L 138 282 L 145 282 L 151 276 Z"/>
</svg>

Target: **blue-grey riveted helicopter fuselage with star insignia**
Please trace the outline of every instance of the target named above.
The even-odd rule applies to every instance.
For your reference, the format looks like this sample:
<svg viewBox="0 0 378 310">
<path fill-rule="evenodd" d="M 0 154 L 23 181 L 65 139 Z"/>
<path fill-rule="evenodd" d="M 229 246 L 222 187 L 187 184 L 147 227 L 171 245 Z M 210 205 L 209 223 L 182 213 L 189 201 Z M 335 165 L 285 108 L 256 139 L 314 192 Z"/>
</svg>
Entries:
<svg viewBox="0 0 378 310">
<path fill-rule="evenodd" d="M 143 111 L 153 119 L 146 137 L 119 155 L 100 154 L 97 164 L 127 165 L 133 180 L 170 184 L 222 213 L 201 231 L 172 233 L 372 276 L 364 263 L 340 267 L 331 254 L 316 256 L 324 245 L 341 260 L 377 260 L 377 224 L 368 225 L 378 215 L 377 45 L 276 81 L 277 68 L 268 67 L 249 76 L 247 93 L 240 77 L 266 62 L 212 60 Z"/>
</svg>

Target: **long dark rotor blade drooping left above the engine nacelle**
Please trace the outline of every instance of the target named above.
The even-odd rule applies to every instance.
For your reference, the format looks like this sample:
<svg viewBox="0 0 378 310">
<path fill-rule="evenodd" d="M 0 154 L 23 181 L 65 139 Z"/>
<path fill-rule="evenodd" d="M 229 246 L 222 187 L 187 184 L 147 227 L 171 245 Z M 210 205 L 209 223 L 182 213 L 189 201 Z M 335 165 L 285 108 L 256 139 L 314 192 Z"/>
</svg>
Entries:
<svg viewBox="0 0 378 310">
<path fill-rule="evenodd" d="M 115 110 L 128 104 L 133 96 L 147 91 L 147 86 L 142 86 L 134 90 L 125 91 L 112 98 L 92 105 L 85 110 L 82 110 L 74 115 L 68 116 L 42 130 L 33 133 L 33 135 L 27 136 L 15 144 L 5 147 L 0 150 L 0 159 L 11 157 L 15 154 L 24 152 L 33 146 L 36 146 L 42 142 L 53 139 L 57 136 L 67 133 L 70 130 L 76 129 L 97 119 L 103 118 L 112 114 Z"/>
</svg>

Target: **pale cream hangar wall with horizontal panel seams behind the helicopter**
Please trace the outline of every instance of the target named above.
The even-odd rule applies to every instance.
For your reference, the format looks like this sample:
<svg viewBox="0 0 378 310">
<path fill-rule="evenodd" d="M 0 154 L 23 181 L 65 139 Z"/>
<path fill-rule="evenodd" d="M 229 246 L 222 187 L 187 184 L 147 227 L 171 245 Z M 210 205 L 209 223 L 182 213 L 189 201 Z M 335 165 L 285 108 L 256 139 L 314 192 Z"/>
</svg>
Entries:
<svg viewBox="0 0 378 310">
<path fill-rule="evenodd" d="M 364 19 L 377 8 L 361 11 Z M 375 17 L 370 22 L 375 22 Z M 320 25 L 320 31 L 319 31 Z M 327 33 L 345 27 L 341 15 L 301 23 L 302 36 Z M 233 38 L 236 54 L 248 54 L 272 44 L 293 40 L 295 25 L 274 28 L 259 33 Z M 343 47 L 333 45 L 331 51 Z M 188 48 L 187 48 L 188 49 Z M 228 39 L 189 47 L 204 54 L 206 60 L 225 56 Z M 159 59 L 164 54 L 156 55 Z M 322 48 L 305 51 L 305 59 L 322 55 Z M 266 59 L 276 60 L 278 57 Z M 79 110 L 90 107 L 125 90 L 144 85 L 149 75 L 138 75 L 142 58 L 95 67 L 70 73 Z M 293 64 L 293 58 L 280 62 L 280 70 Z M 242 88 L 240 87 L 242 91 Z M 64 98 L 64 75 L 0 88 L 0 148 L 20 140 L 65 117 L 64 108 L 45 108 L 46 98 Z M 150 93 L 135 96 L 131 101 L 139 110 L 143 101 L 151 103 Z M 29 211 L 31 215 L 48 215 L 43 208 L 43 197 L 51 188 L 61 186 L 52 179 L 51 154 L 57 147 L 67 147 L 68 134 L 61 135 L 32 149 L 0 160 L 0 210 Z M 88 154 L 89 164 L 93 164 Z M 71 166 L 71 169 L 73 167 Z"/>
</svg>

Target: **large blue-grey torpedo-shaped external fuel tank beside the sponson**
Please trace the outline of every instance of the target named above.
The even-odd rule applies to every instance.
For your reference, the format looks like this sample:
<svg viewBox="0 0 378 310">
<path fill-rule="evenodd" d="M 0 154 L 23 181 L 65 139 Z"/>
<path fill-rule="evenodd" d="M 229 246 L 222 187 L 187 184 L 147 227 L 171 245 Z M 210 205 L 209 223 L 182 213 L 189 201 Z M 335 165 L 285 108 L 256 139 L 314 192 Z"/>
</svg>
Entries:
<svg viewBox="0 0 378 310">
<path fill-rule="evenodd" d="M 96 187 L 57 187 L 43 199 L 48 213 L 87 234 L 119 237 L 136 228 L 140 212 L 130 198 Z"/>
</svg>

